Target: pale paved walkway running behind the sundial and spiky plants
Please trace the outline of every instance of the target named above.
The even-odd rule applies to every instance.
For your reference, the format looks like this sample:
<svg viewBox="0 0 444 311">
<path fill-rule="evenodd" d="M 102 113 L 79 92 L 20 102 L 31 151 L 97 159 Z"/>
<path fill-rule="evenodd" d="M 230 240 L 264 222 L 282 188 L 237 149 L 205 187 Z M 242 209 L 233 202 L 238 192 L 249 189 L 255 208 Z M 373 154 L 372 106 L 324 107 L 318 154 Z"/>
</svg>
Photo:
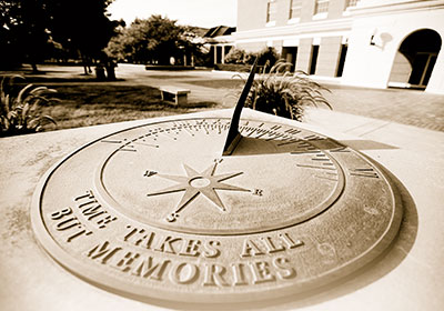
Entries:
<svg viewBox="0 0 444 311">
<path fill-rule="evenodd" d="M 41 66 L 40 69 L 48 71 L 47 77 L 71 74 L 79 78 L 83 71 L 81 67 Z M 231 72 L 209 70 L 147 71 L 144 66 L 119 64 L 117 77 L 124 81 L 112 83 L 181 87 L 191 90 L 190 102 L 218 102 L 219 107 L 230 108 L 236 100 L 230 94 L 233 94 L 236 84 L 242 83 L 233 76 Z M 243 77 L 246 78 L 246 74 Z M 325 97 L 335 111 L 444 131 L 444 96 L 417 90 L 327 87 L 331 93 L 325 93 Z"/>
</svg>

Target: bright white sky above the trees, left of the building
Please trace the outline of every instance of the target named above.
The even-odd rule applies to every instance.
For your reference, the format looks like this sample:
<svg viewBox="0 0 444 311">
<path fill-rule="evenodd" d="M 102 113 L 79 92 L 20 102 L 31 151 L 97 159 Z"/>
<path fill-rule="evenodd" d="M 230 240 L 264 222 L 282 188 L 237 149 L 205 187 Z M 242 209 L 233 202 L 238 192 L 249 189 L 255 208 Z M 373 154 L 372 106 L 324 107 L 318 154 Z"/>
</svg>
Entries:
<svg viewBox="0 0 444 311">
<path fill-rule="evenodd" d="M 236 24 L 238 0 L 114 0 L 108 7 L 112 19 L 127 24 L 135 18 L 147 19 L 161 14 L 178 24 L 211 28 Z"/>
</svg>

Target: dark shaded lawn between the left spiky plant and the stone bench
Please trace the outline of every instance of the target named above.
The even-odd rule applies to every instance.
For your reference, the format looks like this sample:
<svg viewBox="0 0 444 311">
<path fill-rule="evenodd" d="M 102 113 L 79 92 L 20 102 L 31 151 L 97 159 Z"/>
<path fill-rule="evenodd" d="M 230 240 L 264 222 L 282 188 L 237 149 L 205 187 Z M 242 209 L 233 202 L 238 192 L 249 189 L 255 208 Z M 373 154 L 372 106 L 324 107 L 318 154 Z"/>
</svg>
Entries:
<svg viewBox="0 0 444 311">
<path fill-rule="evenodd" d="M 40 113 L 51 116 L 57 126 L 46 131 L 89 127 L 121 121 L 181 114 L 212 109 L 214 102 L 198 102 L 186 108 L 162 102 L 160 91 L 147 86 L 104 83 L 51 84 L 60 102 L 41 106 Z"/>
</svg>

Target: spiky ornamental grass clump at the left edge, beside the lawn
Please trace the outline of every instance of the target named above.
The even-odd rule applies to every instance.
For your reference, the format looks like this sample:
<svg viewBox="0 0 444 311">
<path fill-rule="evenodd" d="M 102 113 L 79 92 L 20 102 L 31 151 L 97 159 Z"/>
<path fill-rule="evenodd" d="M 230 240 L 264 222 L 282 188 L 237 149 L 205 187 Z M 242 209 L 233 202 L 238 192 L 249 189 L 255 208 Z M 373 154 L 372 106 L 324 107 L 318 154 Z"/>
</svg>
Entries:
<svg viewBox="0 0 444 311">
<path fill-rule="evenodd" d="M 46 94 L 56 90 L 28 84 L 14 96 L 13 80 L 21 76 L 3 77 L 0 86 L 0 137 L 33 133 L 42 131 L 48 123 L 56 121 L 50 116 L 39 116 L 40 104 L 48 104 L 57 99 Z"/>
</svg>

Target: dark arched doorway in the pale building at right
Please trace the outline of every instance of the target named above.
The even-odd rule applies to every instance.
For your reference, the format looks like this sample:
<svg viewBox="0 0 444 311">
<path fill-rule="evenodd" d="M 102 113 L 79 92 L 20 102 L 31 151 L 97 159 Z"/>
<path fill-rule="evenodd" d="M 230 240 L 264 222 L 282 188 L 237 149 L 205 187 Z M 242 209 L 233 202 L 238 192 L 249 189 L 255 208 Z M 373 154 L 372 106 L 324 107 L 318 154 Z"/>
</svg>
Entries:
<svg viewBox="0 0 444 311">
<path fill-rule="evenodd" d="M 431 29 L 412 32 L 396 52 L 390 87 L 425 89 L 441 50 L 441 36 Z"/>
</svg>

